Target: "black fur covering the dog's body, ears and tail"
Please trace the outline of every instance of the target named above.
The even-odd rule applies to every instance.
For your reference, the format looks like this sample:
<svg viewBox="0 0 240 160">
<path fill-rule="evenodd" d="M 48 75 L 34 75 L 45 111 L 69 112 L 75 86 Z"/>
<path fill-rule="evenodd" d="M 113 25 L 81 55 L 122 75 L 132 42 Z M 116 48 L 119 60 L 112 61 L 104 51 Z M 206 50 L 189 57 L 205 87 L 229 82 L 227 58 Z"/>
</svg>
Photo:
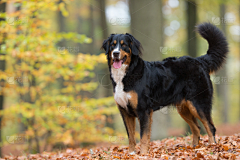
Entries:
<svg viewBox="0 0 240 160">
<path fill-rule="evenodd" d="M 222 66 L 228 52 L 228 44 L 223 33 L 210 23 L 200 24 L 197 31 L 209 43 L 206 55 L 197 58 L 170 57 L 154 62 L 142 60 L 139 56 L 142 50 L 140 42 L 130 34 L 124 36 L 126 41 L 130 38 L 127 45 L 133 54 L 122 80 L 123 90 L 124 92 L 134 91 L 138 95 L 137 108 L 134 109 L 128 103 L 126 112 L 139 119 L 141 137 L 147 123 L 146 117 L 151 111 L 169 105 L 177 106 L 183 100 L 193 104 L 199 116 L 208 121 L 211 132 L 215 135 L 216 129 L 211 120 L 213 86 L 209 74 Z M 103 48 L 108 55 L 110 72 L 112 66 L 109 62 L 111 59 L 109 52 L 112 49 L 106 44 L 111 43 L 113 38 L 119 39 L 120 36 L 123 35 L 111 35 L 103 43 Z M 116 83 L 112 79 L 112 73 L 110 78 L 115 88 Z"/>
</svg>

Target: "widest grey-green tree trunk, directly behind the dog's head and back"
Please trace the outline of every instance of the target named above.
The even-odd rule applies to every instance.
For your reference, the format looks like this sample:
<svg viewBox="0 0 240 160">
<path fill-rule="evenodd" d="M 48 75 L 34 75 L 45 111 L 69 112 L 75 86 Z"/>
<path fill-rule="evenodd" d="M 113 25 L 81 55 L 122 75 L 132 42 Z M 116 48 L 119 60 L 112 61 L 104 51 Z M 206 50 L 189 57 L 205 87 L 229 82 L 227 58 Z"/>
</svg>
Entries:
<svg viewBox="0 0 240 160">
<path fill-rule="evenodd" d="M 160 47 L 163 47 L 162 1 L 131 0 L 131 31 L 144 48 L 143 59 L 161 60 Z M 167 136 L 167 116 L 160 111 L 153 114 L 152 140 Z M 137 125 L 138 126 L 138 125 Z M 138 126 L 139 127 L 139 126 Z M 139 128 L 138 128 L 139 129 Z"/>
</svg>

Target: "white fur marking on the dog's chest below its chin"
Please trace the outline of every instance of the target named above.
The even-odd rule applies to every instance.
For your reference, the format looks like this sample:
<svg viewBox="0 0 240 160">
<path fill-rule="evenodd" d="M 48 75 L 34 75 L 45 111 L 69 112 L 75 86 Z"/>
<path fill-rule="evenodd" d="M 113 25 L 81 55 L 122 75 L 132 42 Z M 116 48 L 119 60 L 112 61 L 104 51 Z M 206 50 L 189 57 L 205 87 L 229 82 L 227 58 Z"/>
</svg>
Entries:
<svg viewBox="0 0 240 160">
<path fill-rule="evenodd" d="M 122 83 L 122 79 L 126 74 L 125 73 L 126 68 L 127 68 L 127 65 L 122 64 L 121 68 L 119 69 L 115 69 L 114 67 L 111 67 L 111 72 L 112 72 L 112 78 L 116 83 L 114 99 L 121 107 L 127 109 L 128 99 L 131 98 L 131 95 L 123 91 L 124 86 Z"/>
</svg>

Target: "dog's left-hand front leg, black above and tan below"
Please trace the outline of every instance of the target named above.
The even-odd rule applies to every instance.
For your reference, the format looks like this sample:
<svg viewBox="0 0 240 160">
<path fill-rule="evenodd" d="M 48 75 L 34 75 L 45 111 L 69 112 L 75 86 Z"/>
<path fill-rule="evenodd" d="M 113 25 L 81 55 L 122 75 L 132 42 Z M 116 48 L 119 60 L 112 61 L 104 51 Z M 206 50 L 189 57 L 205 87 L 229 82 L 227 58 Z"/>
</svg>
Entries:
<svg viewBox="0 0 240 160">
<path fill-rule="evenodd" d="M 128 141 L 129 141 L 129 153 L 132 153 L 135 151 L 135 146 L 136 146 L 136 141 L 135 141 L 135 117 L 130 116 L 125 109 L 121 108 L 120 106 L 118 106 L 118 109 L 122 115 L 123 118 L 123 122 L 124 125 L 126 127 L 127 130 L 127 134 L 128 134 Z"/>
</svg>

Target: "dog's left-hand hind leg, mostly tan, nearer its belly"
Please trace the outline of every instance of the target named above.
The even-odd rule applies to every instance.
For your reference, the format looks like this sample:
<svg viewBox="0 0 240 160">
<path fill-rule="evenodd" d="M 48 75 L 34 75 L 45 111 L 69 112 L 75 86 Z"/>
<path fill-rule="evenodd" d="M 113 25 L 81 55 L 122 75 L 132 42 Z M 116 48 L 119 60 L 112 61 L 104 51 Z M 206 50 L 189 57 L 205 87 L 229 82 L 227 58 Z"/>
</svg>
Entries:
<svg viewBox="0 0 240 160">
<path fill-rule="evenodd" d="M 190 112 L 187 103 L 183 101 L 183 103 L 180 106 L 177 106 L 177 111 L 180 114 L 180 116 L 188 123 L 190 126 L 190 129 L 193 134 L 193 142 L 192 145 L 196 146 L 199 143 L 200 139 L 200 126 L 197 123 L 196 117 L 192 115 Z"/>
</svg>

